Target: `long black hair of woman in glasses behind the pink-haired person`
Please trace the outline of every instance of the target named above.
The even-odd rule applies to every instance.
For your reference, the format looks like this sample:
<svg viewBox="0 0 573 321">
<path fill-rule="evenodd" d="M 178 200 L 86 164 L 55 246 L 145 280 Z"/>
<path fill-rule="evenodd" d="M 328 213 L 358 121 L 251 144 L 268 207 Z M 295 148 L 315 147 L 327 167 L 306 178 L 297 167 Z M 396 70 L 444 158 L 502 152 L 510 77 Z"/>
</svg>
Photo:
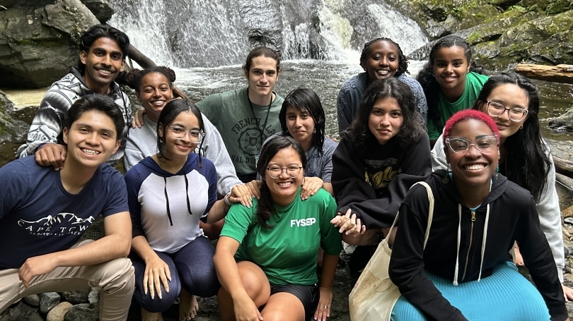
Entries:
<svg viewBox="0 0 573 321">
<path fill-rule="evenodd" d="M 538 87 L 518 73 L 494 75 L 483 85 L 473 109 L 484 107 L 492 91 L 506 84 L 518 85 L 523 92 L 526 92 L 528 114 L 523 122 L 523 128 L 505 140 L 504 148 L 507 151 L 504 162 L 505 174 L 510 181 L 529 190 L 533 198 L 539 201 L 548 185 L 551 161 L 548 157 L 548 147 L 543 143 L 539 130 Z"/>
</svg>

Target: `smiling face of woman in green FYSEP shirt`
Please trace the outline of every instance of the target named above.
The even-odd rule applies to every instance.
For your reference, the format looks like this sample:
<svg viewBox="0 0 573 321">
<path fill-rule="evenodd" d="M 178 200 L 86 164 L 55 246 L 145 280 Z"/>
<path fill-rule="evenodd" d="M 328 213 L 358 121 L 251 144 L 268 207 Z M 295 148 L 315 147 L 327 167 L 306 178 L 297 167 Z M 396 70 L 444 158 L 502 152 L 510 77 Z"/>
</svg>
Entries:
<svg viewBox="0 0 573 321">
<path fill-rule="evenodd" d="M 267 168 L 272 166 L 286 169 L 289 166 L 302 166 L 302 161 L 296 150 L 292 147 L 286 147 L 279 150 L 270 159 Z M 291 178 L 285 170 L 282 170 L 277 178 L 272 178 L 269 171 L 265 169 L 265 183 L 269 187 L 272 200 L 281 207 L 289 205 L 296 198 L 296 193 L 299 187 L 302 186 L 303 180 L 304 169 L 301 169 L 299 176 L 296 176 L 296 178 Z"/>
</svg>

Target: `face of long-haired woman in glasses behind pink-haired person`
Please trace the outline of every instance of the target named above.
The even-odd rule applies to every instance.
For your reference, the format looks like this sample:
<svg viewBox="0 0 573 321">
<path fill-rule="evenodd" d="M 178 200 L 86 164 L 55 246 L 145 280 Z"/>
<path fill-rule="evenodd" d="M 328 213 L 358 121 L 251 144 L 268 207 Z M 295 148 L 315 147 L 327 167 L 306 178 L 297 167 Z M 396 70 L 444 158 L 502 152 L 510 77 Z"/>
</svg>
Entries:
<svg viewBox="0 0 573 321">
<path fill-rule="evenodd" d="M 507 83 L 495 87 L 490 95 L 487 96 L 487 101 L 497 102 L 498 104 L 502 104 L 505 108 L 508 109 L 519 108 L 528 110 L 529 108 L 529 98 L 527 92 L 514 83 Z M 477 102 L 477 107 L 480 109 L 480 111 L 491 116 L 487 110 L 487 102 Z M 495 121 L 497 129 L 499 130 L 501 143 L 504 143 L 506 138 L 509 136 L 517 133 L 519 128 L 527 119 L 527 116 L 525 116 L 523 119 L 521 119 L 521 121 L 512 121 L 509 119 L 508 112 L 511 111 L 504 110 L 501 115 L 492 116 L 492 119 Z"/>
</svg>

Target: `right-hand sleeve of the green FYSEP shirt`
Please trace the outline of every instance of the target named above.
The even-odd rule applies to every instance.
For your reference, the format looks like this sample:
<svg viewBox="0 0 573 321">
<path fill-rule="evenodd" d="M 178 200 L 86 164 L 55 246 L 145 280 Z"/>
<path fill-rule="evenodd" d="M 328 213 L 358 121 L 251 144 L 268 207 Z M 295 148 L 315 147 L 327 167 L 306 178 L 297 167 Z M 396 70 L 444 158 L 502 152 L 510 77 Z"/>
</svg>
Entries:
<svg viewBox="0 0 573 321">
<path fill-rule="evenodd" d="M 325 210 L 320 219 L 320 246 L 328 255 L 339 255 L 340 251 L 342 251 L 342 236 L 340 236 L 338 229 L 335 229 L 334 225 L 330 224 L 330 220 L 336 216 L 336 202 L 326 190 L 321 189 L 319 192 L 326 194 Z M 318 193 L 313 197 L 316 196 L 318 196 Z"/>
</svg>

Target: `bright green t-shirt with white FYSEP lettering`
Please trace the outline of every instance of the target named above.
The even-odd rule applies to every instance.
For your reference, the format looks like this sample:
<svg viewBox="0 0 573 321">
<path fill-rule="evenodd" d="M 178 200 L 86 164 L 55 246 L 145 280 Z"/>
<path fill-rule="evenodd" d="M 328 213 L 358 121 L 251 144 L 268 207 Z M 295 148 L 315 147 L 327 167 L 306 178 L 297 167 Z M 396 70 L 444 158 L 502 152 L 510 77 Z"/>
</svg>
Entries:
<svg viewBox="0 0 573 321">
<path fill-rule="evenodd" d="M 221 236 L 236 239 L 239 246 L 236 260 L 248 260 L 260 266 L 270 284 L 311 285 L 318 283 L 316 259 L 318 247 L 328 255 L 339 255 L 342 238 L 330 220 L 336 216 L 336 202 L 323 189 L 308 200 L 296 198 L 287 207 L 275 205 L 275 211 L 263 227 L 253 207 L 233 205 L 229 210 Z"/>
</svg>

